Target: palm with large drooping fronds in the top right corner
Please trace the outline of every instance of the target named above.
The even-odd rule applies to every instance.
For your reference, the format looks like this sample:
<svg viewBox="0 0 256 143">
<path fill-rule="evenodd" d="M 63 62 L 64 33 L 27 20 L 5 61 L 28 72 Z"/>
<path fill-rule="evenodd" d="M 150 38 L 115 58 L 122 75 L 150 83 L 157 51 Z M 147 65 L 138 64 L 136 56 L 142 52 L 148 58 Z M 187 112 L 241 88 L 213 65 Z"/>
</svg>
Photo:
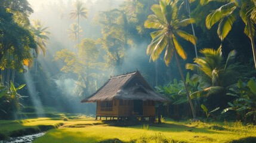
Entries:
<svg viewBox="0 0 256 143">
<path fill-rule="evenodd" d="M 222 0 L 214 1 L 223 2 Z M 201 4 L 207 4 L 208 2 L 209 1 L 203 0 Z M 217 33 L 221 41 L 223 41 L 232 29 L 233 23 L 236 21 L 236 11 L 239 11 L 239 16 L 242 18 L 243 23 L 245 23 L 245 35 L 251 40 L 252 54 L 256 69 L 256 51 L 254 44 L 256 4 L 254 0 L 243 0 L 241 2 L 236 0 L 228 1 L 228 3 L 207 15 L 205 20 L 206 27 L 211 29 L 215 23 L 219 22 Z"/>
</svg>

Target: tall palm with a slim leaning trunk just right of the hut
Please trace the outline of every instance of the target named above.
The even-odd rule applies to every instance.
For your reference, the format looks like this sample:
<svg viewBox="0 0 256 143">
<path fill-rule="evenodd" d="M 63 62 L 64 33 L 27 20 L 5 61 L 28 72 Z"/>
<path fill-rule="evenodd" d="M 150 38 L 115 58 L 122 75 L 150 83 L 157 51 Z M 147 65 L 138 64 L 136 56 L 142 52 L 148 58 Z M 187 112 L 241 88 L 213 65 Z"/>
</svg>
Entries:
<svg viewBox="0 0 256 143">
<path fill-rule="evenodd" d="M 152 36 L 152 42 L 147 47 L 147 54 L 150 54 L 150 60 L 156 61 L 159 55 L 165 49 L 164 61 L 166 66 L 172 60 L 175 55 L 175 59 L 178 64 L 178 69 L 180 70 L 181 79 L 183 80 L 184 86 L 186 88 L 187 98 L 189 98 L 190 107 L 193 114 L 193 119 L 196 119 L 195 108 L 190 99 L 189 89 L 187 88 L 186 81 L 184 79 L 183 72 L 180 66 L 180 60 L 178 55 L 180 55 L 183 60 L 186 60 L 187 54 L 178 42 L 178 38 L 182 38 L 193 44 L 196 43 L 196 37 L 190 35 L 183 30 L 181 27 L 185 27 L 194 22 L 192 18 L 187 18 L 184 20 L 178 20 L 178 5 L 176 0 L 161 0 L 159 5 L 152 5 L 151 10 L 154 14 L 149 15 L 144 23 L 146 28 L 157 29 L 155 32 L 150 33 Z"/>
</svg>

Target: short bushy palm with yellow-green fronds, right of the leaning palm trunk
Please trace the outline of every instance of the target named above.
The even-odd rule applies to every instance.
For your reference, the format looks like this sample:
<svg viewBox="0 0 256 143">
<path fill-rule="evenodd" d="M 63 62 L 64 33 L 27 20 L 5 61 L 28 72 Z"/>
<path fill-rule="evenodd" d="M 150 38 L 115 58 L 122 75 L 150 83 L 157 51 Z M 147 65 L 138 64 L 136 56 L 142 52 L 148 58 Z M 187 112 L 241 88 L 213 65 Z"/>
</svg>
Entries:
<svg viewBox="0 0 256 143">
<path fill-rule="evenodd" d="M 201 54 L 204 57 L 198 57 L 194 59 L 195 64 L 186 64 L 186 69 L 199 71 L 199 82 L 202 89 L 209 88 L 210 86 L 224 86 L 224 81 L 229 73 L 230 61 L 234 60 L 236 51 L 230 51 L 227 60 L 224 61 L 224 57 L 221 52 L 221 46 L 215 50 L 212 48 L 202 49 Z"/>
</svg>

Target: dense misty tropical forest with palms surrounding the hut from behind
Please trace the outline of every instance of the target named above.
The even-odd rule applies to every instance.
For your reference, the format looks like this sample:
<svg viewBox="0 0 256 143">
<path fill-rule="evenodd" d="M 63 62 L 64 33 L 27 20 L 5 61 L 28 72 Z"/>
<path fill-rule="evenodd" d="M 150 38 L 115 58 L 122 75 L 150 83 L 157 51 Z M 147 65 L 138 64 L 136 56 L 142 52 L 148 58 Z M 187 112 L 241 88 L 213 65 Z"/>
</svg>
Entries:
<svg viewBox="0 0 256 143">
<path fill-rule="evenodd" d="M 0 118 L 95 114 L 80 101 L 138 70 L 159 114 L 256 123 L 255 24 L 252 0 L 1 0 Z"/>
</svg>

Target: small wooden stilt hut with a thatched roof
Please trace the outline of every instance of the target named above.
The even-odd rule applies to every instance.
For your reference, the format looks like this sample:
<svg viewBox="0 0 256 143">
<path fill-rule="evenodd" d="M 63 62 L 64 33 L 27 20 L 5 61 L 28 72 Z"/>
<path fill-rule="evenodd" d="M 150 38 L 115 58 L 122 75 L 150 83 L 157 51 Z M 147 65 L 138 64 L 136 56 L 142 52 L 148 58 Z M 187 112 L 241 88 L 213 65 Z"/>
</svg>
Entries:
<svg viewBox="0 0 256 143">
<path fill-rule="evenodd" d="M 166 99 L 156 94 L 139 71 L 110 77 L 100 89 L 81 102 L 97 102 L 98 117 L 155 119 L 155 103 Z"/>
</svg>

